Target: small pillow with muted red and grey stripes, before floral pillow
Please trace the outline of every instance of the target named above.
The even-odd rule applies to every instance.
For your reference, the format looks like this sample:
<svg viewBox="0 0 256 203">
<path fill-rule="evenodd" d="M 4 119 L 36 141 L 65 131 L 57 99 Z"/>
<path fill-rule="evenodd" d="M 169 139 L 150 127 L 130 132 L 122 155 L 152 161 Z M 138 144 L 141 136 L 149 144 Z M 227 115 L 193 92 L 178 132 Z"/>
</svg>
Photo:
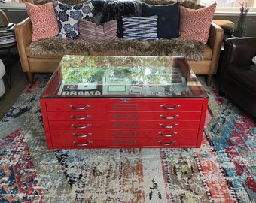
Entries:
<svg viewBox="0 0 256 203">
<path fill-rule="evenodd" d="M 96 25 L 85 19 L 78 22 L 79 36 L 84 41 L 109 41 L 117 38 L 117 20 Z"/>
</svg>

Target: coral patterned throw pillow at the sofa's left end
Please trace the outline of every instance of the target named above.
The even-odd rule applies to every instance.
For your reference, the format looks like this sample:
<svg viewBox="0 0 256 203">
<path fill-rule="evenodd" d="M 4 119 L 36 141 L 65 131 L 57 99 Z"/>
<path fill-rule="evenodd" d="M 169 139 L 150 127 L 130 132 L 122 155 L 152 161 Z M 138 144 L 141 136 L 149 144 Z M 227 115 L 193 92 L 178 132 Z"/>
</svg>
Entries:
<svg viewBox="0 0 256 203">
<path fill-rule="evenodd" d="M 33 5 L 26 2 L 26 11 L 32 23 L 32 41 L 50 38 L 59 34 L 53 3 Z"/>
</svg>

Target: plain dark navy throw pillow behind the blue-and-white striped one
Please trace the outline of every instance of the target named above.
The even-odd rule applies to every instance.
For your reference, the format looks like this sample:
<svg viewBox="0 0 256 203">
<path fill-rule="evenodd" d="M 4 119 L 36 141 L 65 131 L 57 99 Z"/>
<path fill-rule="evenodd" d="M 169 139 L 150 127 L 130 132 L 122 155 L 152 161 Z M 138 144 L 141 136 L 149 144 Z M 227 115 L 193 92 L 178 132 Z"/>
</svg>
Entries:
<svg viewBox="0 0 256 203">
<path fill-rule="evenodd" d="M 158 38 L 178 38 L 178 18 L 180 2 L 171 5 L 142 4 L 142 16 L 157 15 Z"/>
</svg>

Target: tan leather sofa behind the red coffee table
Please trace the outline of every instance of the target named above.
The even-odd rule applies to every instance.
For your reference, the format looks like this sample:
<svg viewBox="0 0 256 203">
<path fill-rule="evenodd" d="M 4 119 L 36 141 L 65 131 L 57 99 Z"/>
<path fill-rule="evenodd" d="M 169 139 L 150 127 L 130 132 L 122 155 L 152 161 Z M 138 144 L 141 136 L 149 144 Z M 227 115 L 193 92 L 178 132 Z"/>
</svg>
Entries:
<svg viewBox="0 0 256 203">
<path fill-rule="evenodd" d="M 26 18 L 15 27 L 17 37 L 17 47 L 20 54 L 20 62 L 23 71 L 26 72 L 29 83 L 33 83 L 33 73 L 53 72 L 59 65 L 62 56 L 66 53 L 52 54 L 33 54 L 29 45 L 32 43 L 32 23 Z M 195 74 L 205 74 L 207 76 L 207 85 L 211 83 L 212 76 L 216 74 L 218 68 L 218 59 L 223 40 L 223 29 L 212 22 L 209 39 L 204 47 L 203 60 L 187 60 Z M 95 51 L 84 51 L 83 53 L 69 53 L 79 55 L 134 55 L 126 51 L 125 53 L 105 53 Z"/>
</svg>

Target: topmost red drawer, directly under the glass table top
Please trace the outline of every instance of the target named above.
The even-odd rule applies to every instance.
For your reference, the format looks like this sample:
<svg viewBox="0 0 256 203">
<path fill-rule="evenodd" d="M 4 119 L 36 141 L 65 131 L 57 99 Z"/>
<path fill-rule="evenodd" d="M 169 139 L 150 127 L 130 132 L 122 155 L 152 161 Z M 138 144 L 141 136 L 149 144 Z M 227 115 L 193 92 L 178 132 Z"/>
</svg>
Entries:
<svg viewBox="0 0 256 203">
<path fill-rule="evenodd" d="M 44 98 L 43 101 L 47 111 L 201 111 L 203 105 L 200 98 Z"/>
</svg>

